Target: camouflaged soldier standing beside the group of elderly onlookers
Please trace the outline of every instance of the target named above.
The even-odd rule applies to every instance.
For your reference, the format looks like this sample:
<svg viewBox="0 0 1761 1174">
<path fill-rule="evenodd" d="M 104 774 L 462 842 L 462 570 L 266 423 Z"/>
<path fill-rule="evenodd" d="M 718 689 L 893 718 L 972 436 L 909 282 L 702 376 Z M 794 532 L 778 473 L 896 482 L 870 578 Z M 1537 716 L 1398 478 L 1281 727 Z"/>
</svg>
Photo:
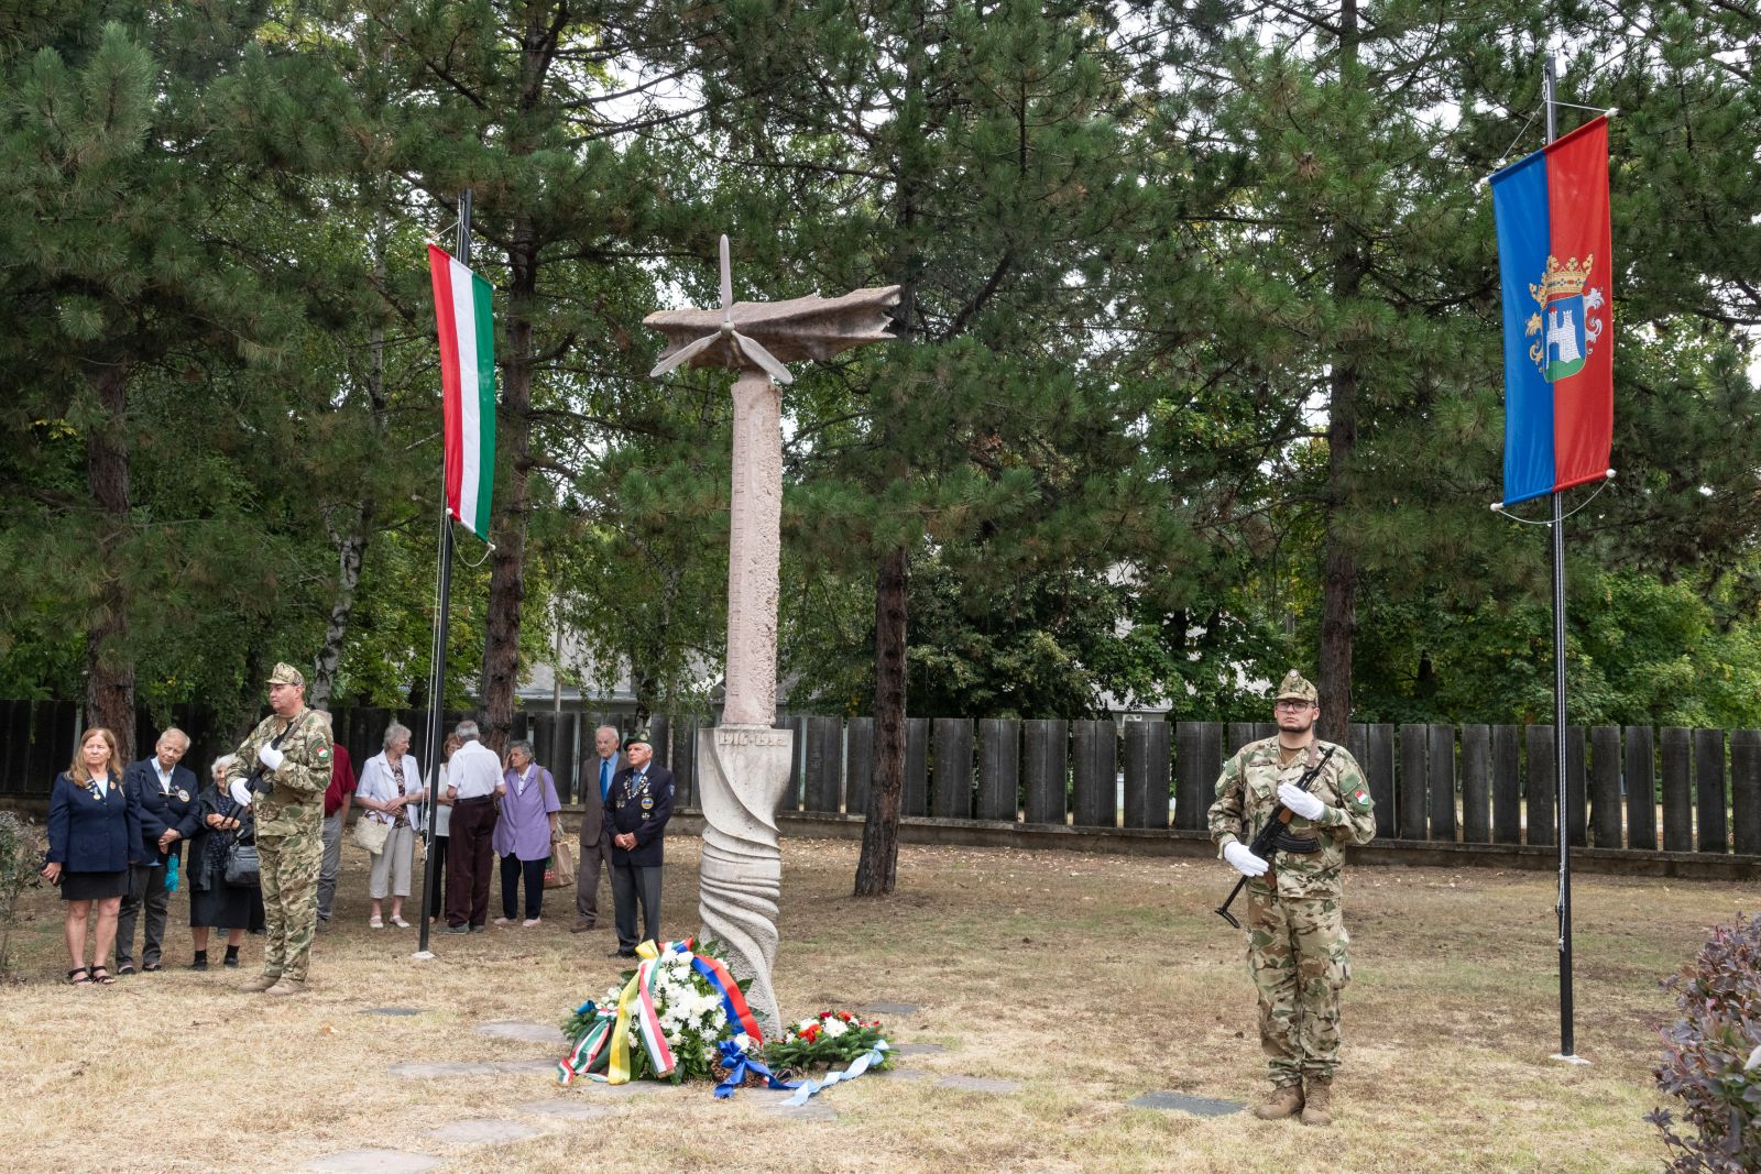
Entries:
<svg viewBox="0 0 1761 1174">
<path fill-rule="evenodd" d="M 306 984 L 312 935 L 319 924 L 324 789 L 331 778 L 333 741 L 329 718 L 306 708 L 306 678 L 291 664 L 278 664 L 269 674 L 269 709 L 227 767 L 232 797 L 250 803 L 257 820 L 268 938 L 262 975 L 243 989 L 298 994 Z"/>
</svg>

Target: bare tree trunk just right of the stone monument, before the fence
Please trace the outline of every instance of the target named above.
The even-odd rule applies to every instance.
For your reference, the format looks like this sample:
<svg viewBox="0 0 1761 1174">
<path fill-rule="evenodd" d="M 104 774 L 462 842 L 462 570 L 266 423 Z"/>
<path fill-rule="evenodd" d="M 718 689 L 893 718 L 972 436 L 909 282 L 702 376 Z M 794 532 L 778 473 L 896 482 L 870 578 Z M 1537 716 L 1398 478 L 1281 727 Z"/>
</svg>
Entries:
<svg viewBox="0 0 1761 1174">
<path fill-rule="evenodd" d="M 905 547 L 875 576 L 875 750 L 856 896 L 886 896 L 898 878 L 898 804 L 905 790 Z"/>
</svg>

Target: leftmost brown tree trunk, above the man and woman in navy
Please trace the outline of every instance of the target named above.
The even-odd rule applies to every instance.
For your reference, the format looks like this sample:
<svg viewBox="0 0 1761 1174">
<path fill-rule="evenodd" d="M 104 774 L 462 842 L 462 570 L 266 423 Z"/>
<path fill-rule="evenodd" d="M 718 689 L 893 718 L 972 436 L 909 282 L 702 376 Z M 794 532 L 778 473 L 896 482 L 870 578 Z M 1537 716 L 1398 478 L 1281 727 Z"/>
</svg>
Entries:
<svg viewBox="0 0 1761 1174">
<path fill-rule="evenodd" d="M 99 542 L 93 565 L 102 588 L 86 625 L 86 725 L 116 736 L 122 762 L 134 760 L 134 665 L 123 639 L 127 600 L 116 560 L 129 528 L 129 454 L 122 449 L 125 366 L 106 368 L 93 380 L 104 405 L 104 422 L 86 433 L 86 482 L 99 505 Z"/>
</svg>

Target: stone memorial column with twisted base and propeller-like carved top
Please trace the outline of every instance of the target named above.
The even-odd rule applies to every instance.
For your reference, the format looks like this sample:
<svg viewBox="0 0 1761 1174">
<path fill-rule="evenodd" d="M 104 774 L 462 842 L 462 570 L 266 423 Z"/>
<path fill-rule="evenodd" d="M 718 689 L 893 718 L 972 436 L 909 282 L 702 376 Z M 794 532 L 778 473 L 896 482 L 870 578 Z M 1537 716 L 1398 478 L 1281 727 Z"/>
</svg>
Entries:
<svg viewBox="0 0 1761 1174">
<path fill-rule="evenodd" d="M 722 238 L 722 308 L 652 313 L 667 338 L 653 375 L 678 366 L 724 366 L 734 380 L 734 484 L 727 551 L 727 690 L 722 723 L 697 736 L 703 935 L 727 945 L 729 965 L 752 979 L 747 1002 L 766 1035 L 782 1024 L 771 965 L 782 854 L 777 806 L 789 785 L 794 732 L 777 722 L 777 567 L 782 526 L 784 363 L 831 356 L 893 336 L 888 310 L 898 287 L 844 297 L 734 301 Z"/>
</svg>

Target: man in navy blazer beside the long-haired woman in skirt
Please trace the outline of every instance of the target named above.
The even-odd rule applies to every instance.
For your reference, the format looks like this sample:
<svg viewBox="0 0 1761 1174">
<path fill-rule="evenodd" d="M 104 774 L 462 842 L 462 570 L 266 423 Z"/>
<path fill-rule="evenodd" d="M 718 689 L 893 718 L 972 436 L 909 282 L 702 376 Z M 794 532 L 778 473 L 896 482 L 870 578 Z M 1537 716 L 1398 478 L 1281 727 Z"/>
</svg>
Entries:
<svg viewBox="0 0 1761 1174">
<path fill-rule="evenodd" d="M 178 727 L 158 736 L 151 759 L 129 764 L 122 787 L 141 811 L 141 845 L 137 855 L 144 864 L 129 866 L 129 894 L 116 915 L 116 973 L 134 973 L 134 922 L 146 908 L 146 936 L 141 943 L 141 970 L 158 970 L 166 943 L 166 912 L 171 892 L 166 889 L 166 871 L 173 857 L 183 859 L 183 841 L 195 834 L 195 796 L 201 785 L 195 773 L 180 766 L 190 750 L 190 737 Z"/>
</svg>

